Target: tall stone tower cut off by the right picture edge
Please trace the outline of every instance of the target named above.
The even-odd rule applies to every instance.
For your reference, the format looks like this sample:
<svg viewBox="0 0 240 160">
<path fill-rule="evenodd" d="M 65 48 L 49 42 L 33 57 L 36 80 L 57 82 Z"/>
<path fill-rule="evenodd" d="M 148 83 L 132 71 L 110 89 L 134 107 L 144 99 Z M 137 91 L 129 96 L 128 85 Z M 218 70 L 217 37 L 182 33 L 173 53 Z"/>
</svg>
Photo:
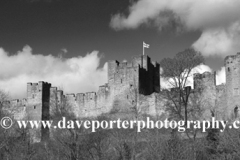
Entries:
<svg viewBox="0 0 240 160">
<path fill-rule="evenodd" d="M 234 109 L 240 107 L 240 52 L 224 60 L 226 71 L 227 115 L 234 117 Z"/>
</svg>

